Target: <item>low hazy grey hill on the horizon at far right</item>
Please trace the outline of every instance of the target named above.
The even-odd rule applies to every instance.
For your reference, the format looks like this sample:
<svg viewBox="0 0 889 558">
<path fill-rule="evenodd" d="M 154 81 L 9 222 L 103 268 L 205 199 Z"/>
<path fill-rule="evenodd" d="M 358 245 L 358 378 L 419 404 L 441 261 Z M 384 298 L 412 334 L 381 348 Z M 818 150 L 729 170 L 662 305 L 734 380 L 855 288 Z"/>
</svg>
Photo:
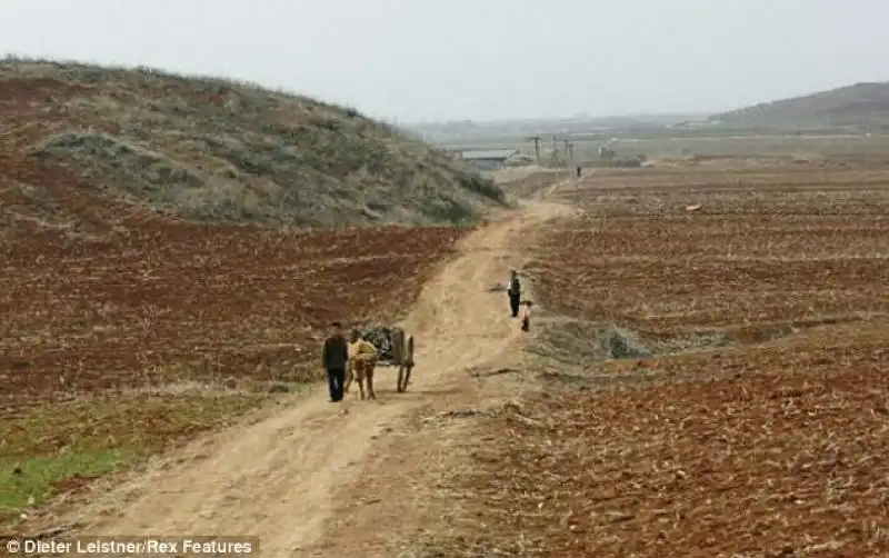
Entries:
<svg viewBox="0 0 889 558">
<path fill-rule="evenodd" d="M 856 83 L 710 117 L 731 127 L 889 127 L 889 83 Z"/>
</svg>

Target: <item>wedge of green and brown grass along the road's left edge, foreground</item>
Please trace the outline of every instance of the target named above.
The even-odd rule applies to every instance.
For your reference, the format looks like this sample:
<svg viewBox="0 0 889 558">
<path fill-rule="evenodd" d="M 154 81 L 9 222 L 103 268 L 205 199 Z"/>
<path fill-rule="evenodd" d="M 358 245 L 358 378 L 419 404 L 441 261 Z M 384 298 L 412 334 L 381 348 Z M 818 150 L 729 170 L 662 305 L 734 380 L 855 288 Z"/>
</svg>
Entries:
<svg viewBox="0 0 889 558">
<path fill-rule="evenodd" d="M 42 406 L 0 422 L 0 526 L 26 508 L 228 425 L 261 395 L 128 396 Z"/>
</svg>

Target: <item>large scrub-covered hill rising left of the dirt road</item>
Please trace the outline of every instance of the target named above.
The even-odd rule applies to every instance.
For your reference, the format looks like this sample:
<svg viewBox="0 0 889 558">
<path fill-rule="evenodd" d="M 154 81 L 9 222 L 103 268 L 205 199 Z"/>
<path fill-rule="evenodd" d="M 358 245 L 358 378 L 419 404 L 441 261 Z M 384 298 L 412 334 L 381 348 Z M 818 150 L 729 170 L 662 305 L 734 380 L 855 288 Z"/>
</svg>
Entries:
<svg viewBox="0 0 889 558">
<path fill-rule="evenodd" d="M 2 205 L 31 218 L 71 211 L 50 191 L 66 180 L 84 208 L 98 196 L 297 227 L 465 223 L 505 203 L 462 163 L 354 110 L 150 69 L 0 61 L 0 146 Z"/>
</svg>

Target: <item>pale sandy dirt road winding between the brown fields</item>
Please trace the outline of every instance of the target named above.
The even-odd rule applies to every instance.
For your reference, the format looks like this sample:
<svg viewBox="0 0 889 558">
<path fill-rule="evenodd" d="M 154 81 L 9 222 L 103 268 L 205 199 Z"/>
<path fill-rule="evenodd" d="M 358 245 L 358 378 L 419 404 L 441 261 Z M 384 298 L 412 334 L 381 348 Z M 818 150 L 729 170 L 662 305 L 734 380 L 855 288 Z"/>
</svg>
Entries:
<svg viewBox="0 0 889 558">
<path fill-rule="evenodd" d="M 565 211 L 532 202 L 465 239 L 406 319 L 418 338 L 419 363 L 407 393 L 393 392 L 392 372 L 381 369 L 376 402 L 352 392 L 332 405 L 320 391 L 297 400 L 270 418 L 196 442 L 176 462 L 82 508 L 74 518 L 79 530 L 254 535 L 263 556 L 300 556 L 323 535 L 337 489 L 360 480 L 377 425 L 397 424 L 423 403 L 422 393 L 453 386 L 468 368 L 486 366 L 517 341 L 506 297 L 491 287 L 520 263 L 511 253 L 513 237 Z"/>
</svg>

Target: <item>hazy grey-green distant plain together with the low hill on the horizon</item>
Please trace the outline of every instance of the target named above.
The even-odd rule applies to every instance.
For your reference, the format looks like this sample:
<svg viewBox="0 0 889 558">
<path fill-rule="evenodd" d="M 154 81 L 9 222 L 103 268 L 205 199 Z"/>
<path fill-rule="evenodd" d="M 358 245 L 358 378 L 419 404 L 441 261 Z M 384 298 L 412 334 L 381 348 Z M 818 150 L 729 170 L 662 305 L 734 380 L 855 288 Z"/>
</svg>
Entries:
<svg viewBox="0 0 889 558">
<path fill-rule="evenodd" d="M 570 118 L 427 127 L 448 148 L 516 148 L 533 153 L 528 137 L 549 149 L 570 137 L 579 160 L 613 142 L 626 157 L 698 155 L 750 157 L 796 153 L 885 155 L 889 150 L 889 83 L 856 83 L 809 96 L 762 102 L 721 114 Z M 868 138 L 866 134 L 872 133 Z M 560 146 L 561 147 L 561 146 Z M 631 152 L 636 151 L 636 152 Z"/>
</svg>

